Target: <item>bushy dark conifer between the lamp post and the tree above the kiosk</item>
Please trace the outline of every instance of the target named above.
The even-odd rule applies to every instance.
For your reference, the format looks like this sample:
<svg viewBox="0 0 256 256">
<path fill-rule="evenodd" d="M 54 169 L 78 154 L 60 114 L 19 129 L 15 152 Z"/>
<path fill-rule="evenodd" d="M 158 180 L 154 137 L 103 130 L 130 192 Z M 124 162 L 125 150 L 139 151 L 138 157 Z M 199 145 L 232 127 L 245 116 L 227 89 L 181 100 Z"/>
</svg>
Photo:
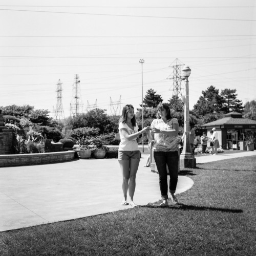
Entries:
<svg viewBox="0 0 256 256">
<path fill-rule="evenodd" d="M 202 91 L 197 103 L 194 105 L 193 113 L 197 118 L 202 118 L 210 113 L 223 113 L 223 104 L 225 100 L 219 95 L 219 90 L 214 86 L 210 86 L 206 91 Z"/>
</svg>

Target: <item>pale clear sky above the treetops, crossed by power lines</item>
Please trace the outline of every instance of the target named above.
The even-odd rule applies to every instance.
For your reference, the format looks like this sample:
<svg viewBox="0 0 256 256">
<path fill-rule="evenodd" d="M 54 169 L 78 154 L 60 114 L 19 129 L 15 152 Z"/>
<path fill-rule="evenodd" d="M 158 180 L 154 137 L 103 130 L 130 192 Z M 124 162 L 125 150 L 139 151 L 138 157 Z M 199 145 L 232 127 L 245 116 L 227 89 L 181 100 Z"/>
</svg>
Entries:
<svg viewBox="0 0 256 256">
<path fill-rule="evenodd" d="M 253 0 L 0 0 L 0 22 L 0 106 L 54 116 L 60 80 L 68 117 L 78 75 L 79 112 L 120 114 L 149 89 L 167 102 L 177 63 L 191 69 L 189 109 L 211 85 L 256 99 Z"/>
</svg>

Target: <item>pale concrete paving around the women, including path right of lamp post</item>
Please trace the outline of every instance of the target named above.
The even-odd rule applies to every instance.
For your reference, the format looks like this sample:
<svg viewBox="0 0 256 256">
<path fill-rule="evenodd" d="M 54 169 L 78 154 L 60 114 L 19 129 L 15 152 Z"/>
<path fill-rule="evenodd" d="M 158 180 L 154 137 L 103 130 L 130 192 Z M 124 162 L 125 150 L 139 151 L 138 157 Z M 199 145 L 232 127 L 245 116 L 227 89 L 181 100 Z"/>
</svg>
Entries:
<svg viewBox="0 0 256 256">
<path fill-rule="evenodd" d="M 202 156 L 197 163 L 251 155 L 256 151 Z M 161 198 L 158 175 L 143 166 L 147 155 L 142 157 L 134 197 L 139 205 Z M 121 181 L 117 159 L 0 168 L 0 231 L 130 208 L 120 205 Z M 176 194 L 193 184 L 179 176 Z"/>
</svg>

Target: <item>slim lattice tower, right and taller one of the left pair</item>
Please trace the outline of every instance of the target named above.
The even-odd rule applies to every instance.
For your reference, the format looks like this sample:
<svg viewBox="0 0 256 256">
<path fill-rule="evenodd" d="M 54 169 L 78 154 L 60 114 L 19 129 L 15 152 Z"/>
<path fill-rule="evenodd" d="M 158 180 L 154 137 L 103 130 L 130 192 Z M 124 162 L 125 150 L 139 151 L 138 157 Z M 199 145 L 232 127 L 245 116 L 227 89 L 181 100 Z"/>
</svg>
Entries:
<svg viewBox="0 0 256 256">
<path fill-rule="evenodd" d="M 79 76 L 75 75 L 75 81 L 73 83 L 73 95 L 70 103 L 70 115 L 77 116 L 82 113 L 82 100 Z"/>
</svg>

